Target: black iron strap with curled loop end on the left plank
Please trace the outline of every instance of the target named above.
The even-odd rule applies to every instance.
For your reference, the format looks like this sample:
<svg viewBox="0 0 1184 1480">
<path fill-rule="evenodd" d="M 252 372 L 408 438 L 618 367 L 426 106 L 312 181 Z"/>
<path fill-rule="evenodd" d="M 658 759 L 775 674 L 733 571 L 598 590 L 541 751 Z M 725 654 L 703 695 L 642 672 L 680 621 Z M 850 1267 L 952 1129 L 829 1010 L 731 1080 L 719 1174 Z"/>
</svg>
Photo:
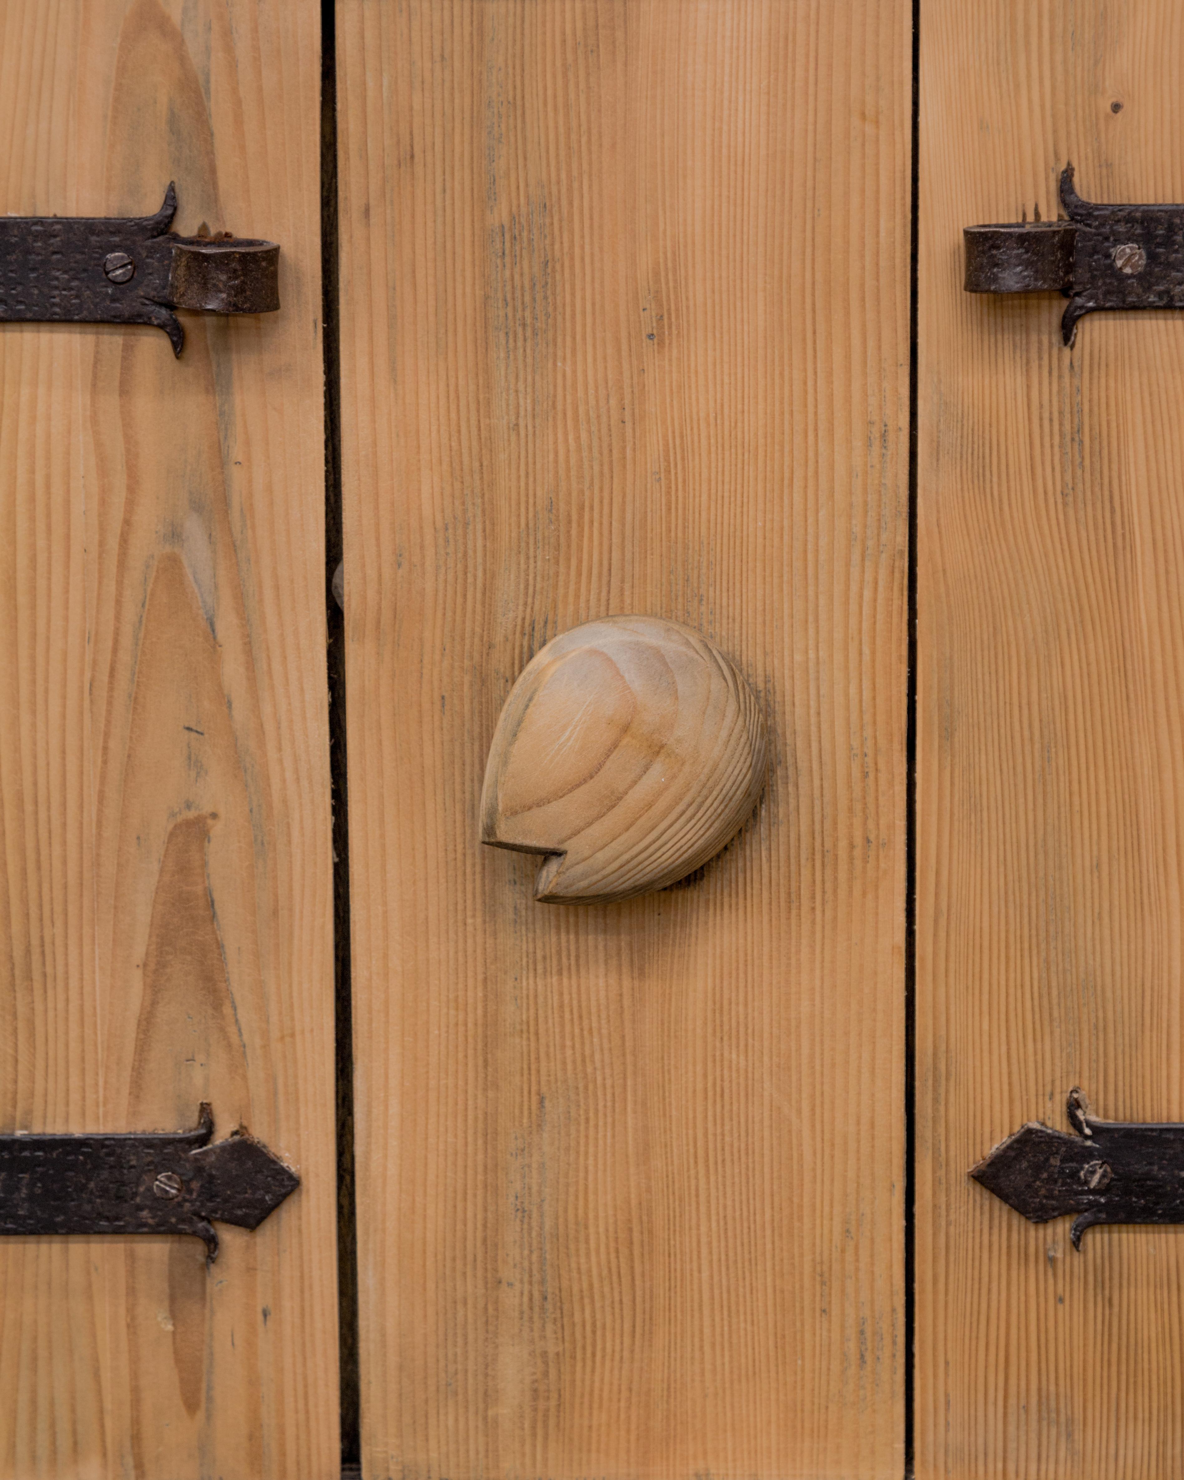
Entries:
<svg viewBox="0 0 1184 1480">
<path fill-rule="evenodd" d="M 155 324 L 185 348 L 175 308 L 271 314 L 280 249 L 221 232 L 179 237 L 176 189 L 155 216 L 0 216 L 0 323 Z"/>
</svg>

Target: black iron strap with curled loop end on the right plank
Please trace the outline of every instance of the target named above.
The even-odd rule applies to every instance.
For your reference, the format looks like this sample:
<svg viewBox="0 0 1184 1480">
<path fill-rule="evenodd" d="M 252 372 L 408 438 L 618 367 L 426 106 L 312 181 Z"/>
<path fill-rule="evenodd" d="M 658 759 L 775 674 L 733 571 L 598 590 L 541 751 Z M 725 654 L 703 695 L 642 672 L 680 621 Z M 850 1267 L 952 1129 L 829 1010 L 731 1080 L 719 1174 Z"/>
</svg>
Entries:
<svg viewBox="0 0 1184 1480">
<path fill-rule="evenodd" d="M 1184 206 L 1101 206 L 1061 172 L 1067 221 L 966 226 L 968 293 L 1063 293 L 1061 337 L 1098 308 L 1184 308 Z"/>
</svg>

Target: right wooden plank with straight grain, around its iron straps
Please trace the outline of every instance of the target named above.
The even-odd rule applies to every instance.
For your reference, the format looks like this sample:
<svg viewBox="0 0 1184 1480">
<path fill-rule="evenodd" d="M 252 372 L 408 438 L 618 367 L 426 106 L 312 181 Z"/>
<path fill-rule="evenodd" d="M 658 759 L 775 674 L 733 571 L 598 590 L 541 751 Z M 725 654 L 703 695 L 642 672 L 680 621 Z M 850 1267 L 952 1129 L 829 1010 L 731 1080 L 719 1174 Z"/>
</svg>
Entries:
<svg viewBox="0 0 1184 1480">
<path fill-rule="evenodd" d="M 1184 1230 L 1033 1227 L 1026 1120 L 1184 1119 L 1184 318 L 961 290 L 965 225 L 1184 200 L 1171 0 L 924 0 L 918 1476 L 1178 1476 Z M 1117 105 L 1117 107 L 1116 107 Z"/>
</svg>

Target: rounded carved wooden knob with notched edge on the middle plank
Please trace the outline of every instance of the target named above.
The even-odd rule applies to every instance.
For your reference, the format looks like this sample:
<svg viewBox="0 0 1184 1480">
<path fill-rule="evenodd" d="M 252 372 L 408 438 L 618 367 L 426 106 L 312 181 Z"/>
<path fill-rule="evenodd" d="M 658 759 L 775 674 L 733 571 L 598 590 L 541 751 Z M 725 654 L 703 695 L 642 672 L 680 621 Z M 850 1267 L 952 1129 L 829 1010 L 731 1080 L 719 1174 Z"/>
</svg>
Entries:
<svg viewBox="0 0 1184 1480">
<path fill-rule="evenodd" d="M 485 765 L 481 841 L 548 854 L 548 904 L 602 904 L 693 873 L 765 781 L 756 697 L 678 622 L 604 617 L 548 642 L 506 699 Z"/>
</svg>

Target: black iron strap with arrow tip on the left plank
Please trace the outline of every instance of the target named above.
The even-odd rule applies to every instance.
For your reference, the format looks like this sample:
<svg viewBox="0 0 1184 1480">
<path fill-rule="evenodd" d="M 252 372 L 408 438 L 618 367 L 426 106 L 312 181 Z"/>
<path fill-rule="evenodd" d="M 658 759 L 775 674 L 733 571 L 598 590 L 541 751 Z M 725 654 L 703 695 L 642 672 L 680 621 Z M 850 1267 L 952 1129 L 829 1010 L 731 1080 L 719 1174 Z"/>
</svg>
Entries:
<svg viewBox="0 0 1184 1480">
<path fill-rule="evenodd" d="M 209 1146 L 192 1131 L 144 1135 L 0 1135 L 0 1234 L 191 1233 L 218 1258 L 212 1222 L 258 1228 L 300 1185 L 238 1128 Z"/>
</svg>

